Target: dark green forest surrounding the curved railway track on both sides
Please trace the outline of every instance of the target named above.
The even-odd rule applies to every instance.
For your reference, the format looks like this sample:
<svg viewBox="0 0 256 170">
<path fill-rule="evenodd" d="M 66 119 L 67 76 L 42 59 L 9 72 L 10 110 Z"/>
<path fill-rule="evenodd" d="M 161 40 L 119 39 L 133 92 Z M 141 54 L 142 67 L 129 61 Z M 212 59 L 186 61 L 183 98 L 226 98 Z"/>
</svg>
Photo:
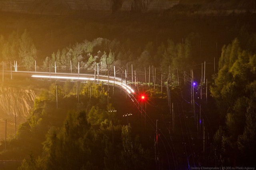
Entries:
<svg viewBox="0 0 256 170">
<path fill-rule="evenodd" d="M 163 15 L 161 17 L 164 19 L 168 16 L 168 14 Z M 204 100 L 196 100 L 196 102 L 202 104 L 202 108 L 209 112 L 205 113 L 205 120 L 208 117 L 209 119 L 214 117 L 214 120 L 205 125 L 208 132 L 209 129 L 212 131 L 212 135 L 207 135 L 207 149 L 210 150 L 207 154 L 203 154 L 202 147 L 199 147 L 202 137 L 196 133 L 193 134 L 196 132 L 196 125 L 193 123 L 186 125 L 191 129 L 191 136 L 184 139 L 182 128 L 185 124 L 182 122 L 177 126 L 175 133 L 170 133 L 170 127 L 166 128 L 170 134 L 167 143 L 177 149 L 174 153 L 162 151 L 158 162 L 155 153 L 156 144 L 154 145 L 156 139 L 152 138 L 155 135 L 154 131 L 149 130 L 150 128 L 148 131 L 142 130 L 144 125 L 137 111 L 132 113 L 134 116 L 132 118 L 125 119 L 123 116 L 129 107 L 135 110 L 134 105 L 125 99 L 124 93 L 109 96 L 106 86 L 100 83 L 94 84 L 94 82 L 76 84 L 72 81 L 45 80 L 42 83 L 44 87 L 34 101 L 34 108 L 30 111 L 27 121 L 21 123 L 18 128 L 17 139 L 8 141 L 8 149 L 4 149 L 4 140 L 1 141 L 0 158 L 2 160 L 22 159 L 19 167 L 13 165 L 19 170 L 187 169 L 192 166 L 192 162 L 194 166 L 255 166 L 255 17 L 255 14 L 249 12 L 230 14 L 222 18 L 220 16 L 176 16 L 168 19 L 172 24 L 176 24 L 174 27 L 167 21 L 157 21 L 158 26 L 155 27 L 162 25 L 161 31 L 150 27 L 152 24 L 150 21 L 157 20 L 154 17 L 149 17 L 150 21 L 144 20 L 146 16 L 135 20 L 127 17 L 125 23 L 130 22 L 133 26 L 127 26 L 125 23 L 112 25 L 113 20 L 118 20 L 112 18 L 110 23 L 104 23 L 103 26 L 100 22 L 87 23 L 88 32 L 90 28 L 101 32 L 100 27 L 104 27 L 106 32 L 103 35 L 100 33 L 94 35 L 86 31 L 86 36 L 76 39 L 74 35 L 73 39 L 76 41 L 70 42 L 59 35 L 56 39 L 60 45 L 37 42 L 34 37 L 39 35 L 31 27 L 22 31 L 6 31 L 8 34 L 5 35 L 1 35 L 0 32 L 0 61 L 3 61 L 5 67 L 9 66 L 10 62 L 18 61 L 19 69 L 33 71 L 35 61 L 38 61 L 37 70 L 40 71 L 54 72 L 54 68 L 57 68 L 57 72 L 76 73 L 79 63 L 80 72 L 85 73 L 94 72 L 99 64 L 102 72 L 106 72 L 109 67 L 110 72 L 113 73 L 115 66 L 120 70 L 120 74 L 124 74 L 124 70 L 128 71 L 128 66 L 130 70 L 132 64 L 134 70 L 139 73 L 138 81 L 141 90 L 143 89 L 147 98 L 150 99 L 147 107 L 148 115 L 152 119 L 158 119 L 161 116 L 163 119 L 170 119 L 171 107 L 166 103 L 169 93 L 167 94 L 166 91 L 161 93 L 161 74 L 164 75 L 165 90 L 170 88 L 171 100 L 174 102 L 184 100 L 183 102 L 186 103 L 190 101 L 188 91 L 191 86 L 188 82 L 192 84 L 191 70 L 194 70 L 198 92 L 206 86 L 210 89 L 208 92 L 210 102 Z M 62 20 L 62 18 L 58 19 Z M 33 19 L 27 20 L 29 22 Z M 48 18 L 41 20 L 48 20 Z M 73 24 L 79 26 L 80 21 L 85 22 L 78 19 L 78 23 Z M 184 23 L 192 25 L 193 29 L 184 28 Z M 58 27 L 60 26 L 56 26 Z M 126 38 L 124 38 L 124 32 L 121 33 L 123 30 L 114 33 L 114 30 L 120 27 L 126 29 Z M 218 27 L 220 30 L 216 31 Z M 60 32 L 64 33 L 66 29 L 67 27 L 64 27 Z M 154 31 L 158 31 L 159 34 L 149 34 Z M 145 33 L 142 34 L 143 32 Z M 73 34 L 76 33 L 65 36 Z M 84 39 L 84 37 L 87 38 Z M 44 42 L 49 41 L 48 37 L 44 40 Z M 50 50 L 45 51 L 47 47 Z M 206 61 L 208 84 L 203 83 L 202 80 L 199 83 L 204 61 Z M 152 71 L 158 79 L 158 86 L 154 89 L 146 86 L 144 82 L 144 69 L 148 71 L 149 66 L 156 69 L 155 73 L 154 70 Z M 131 74 L 131 72 L 128 73 Z M 58 83 L 60 100 L 58 109 L 55 102 L 56 83 Z M 80 102 L 77 101 L 77 96 Z M 119 98 L 120 101 L 116 101 L 115 98 Z M 181 105 L 183 104 L 177 104 L 175 109 L 181 109 Z M 212 112 L 209 108 L 212 108 Z M 184 110 L 186 116 L 179 115 L 179 117 L 187 117 L 188 122 L 196 119 L 191 114 L 190 104 L 184 104 Z M 199 111 L 196 110 L 196 113 Z M 166 123 L 166 126 L 169 124 Z M 183 141 L 180 142 L 178 139 L 182 135 Z M 189 144 L 185 144 L 185 141 Z M 192 156 L 189 158 L 188 154 L 184 156 L 184 150 L 190 143 L 194 145 L 192 149 L 190 146 Z M 166 155 L 170 156 L 168 160 Z M 172 158 L 176 161 L 172 161 Z"/>
</svg>

